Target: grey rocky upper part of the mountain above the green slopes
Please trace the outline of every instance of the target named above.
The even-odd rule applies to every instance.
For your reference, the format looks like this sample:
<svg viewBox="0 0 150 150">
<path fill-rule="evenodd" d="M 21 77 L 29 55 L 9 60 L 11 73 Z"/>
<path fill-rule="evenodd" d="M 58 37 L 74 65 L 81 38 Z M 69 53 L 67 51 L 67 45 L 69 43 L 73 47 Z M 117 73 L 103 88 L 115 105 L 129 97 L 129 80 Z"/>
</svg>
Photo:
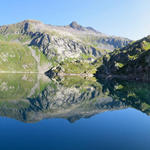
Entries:
<svg viewBox="0 0 150 150">
<path fill-rule="evenodd" d="M 69 26 L 52 26 L 33 20 L 1 26 L 0 36 L 1 40 L 20 41 L 34 46 L 49 60 L 56 62 L 66 58 L 83 59 L 83 54 L 97 58 L 106 53 L 102 49 L 113 50 L 131 42 L 126 38 L 104 35 L 76 22 Z"/>
</svg>

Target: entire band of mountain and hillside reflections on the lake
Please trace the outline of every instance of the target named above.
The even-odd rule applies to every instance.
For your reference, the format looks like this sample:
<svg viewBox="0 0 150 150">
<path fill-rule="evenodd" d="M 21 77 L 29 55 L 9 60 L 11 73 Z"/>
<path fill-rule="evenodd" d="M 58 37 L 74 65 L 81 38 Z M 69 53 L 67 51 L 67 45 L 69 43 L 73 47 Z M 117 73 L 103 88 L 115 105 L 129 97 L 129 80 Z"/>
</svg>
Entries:
<svg viewBox="0 0 150 150">
<path fill-rule="evenodd" d="M 150 114 L 150 85 L 95 78 L 50 80 L 37 74 L 0 75 L 0 116 L 22 122 L 65 118 L 75 122 L 95 114 L 132 107 Z"/>
</svg>

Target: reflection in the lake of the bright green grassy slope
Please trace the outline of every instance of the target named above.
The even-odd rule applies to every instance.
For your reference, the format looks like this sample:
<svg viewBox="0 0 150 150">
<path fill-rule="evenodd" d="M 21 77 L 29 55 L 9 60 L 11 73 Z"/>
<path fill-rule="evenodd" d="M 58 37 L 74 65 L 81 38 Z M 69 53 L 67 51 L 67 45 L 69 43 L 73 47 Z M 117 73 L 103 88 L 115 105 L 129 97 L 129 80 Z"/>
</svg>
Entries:
<svg viewBox="0 0 150 150">
<path fill-rule="evenodd" d="M 45 88 L 46 84 L 42 80 L 38 81 L 37 74 L 0 74 L 0 100 L 20 100 L 29 95 L 34 97 Z M 34 87 L 35 89 L 31 91 Z"/>
</svg>

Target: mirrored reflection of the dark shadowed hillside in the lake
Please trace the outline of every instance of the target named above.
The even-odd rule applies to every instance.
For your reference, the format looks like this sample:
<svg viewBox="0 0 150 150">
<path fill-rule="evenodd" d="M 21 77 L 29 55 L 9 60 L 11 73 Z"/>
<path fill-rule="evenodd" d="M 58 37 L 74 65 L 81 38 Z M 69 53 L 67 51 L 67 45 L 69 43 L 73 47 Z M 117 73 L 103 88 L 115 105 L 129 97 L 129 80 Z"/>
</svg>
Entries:
<svg viewBox="0 0 150 150">
<path fill-rule="evenodd" d="M 140 110 L 150 115 L 150 85 L 146 82 L 122 81 L 119 79 L 99 81 L 103 92 L 108 93 L 112 99 L 123 102 L 126 106 Z"/>
</svg>

